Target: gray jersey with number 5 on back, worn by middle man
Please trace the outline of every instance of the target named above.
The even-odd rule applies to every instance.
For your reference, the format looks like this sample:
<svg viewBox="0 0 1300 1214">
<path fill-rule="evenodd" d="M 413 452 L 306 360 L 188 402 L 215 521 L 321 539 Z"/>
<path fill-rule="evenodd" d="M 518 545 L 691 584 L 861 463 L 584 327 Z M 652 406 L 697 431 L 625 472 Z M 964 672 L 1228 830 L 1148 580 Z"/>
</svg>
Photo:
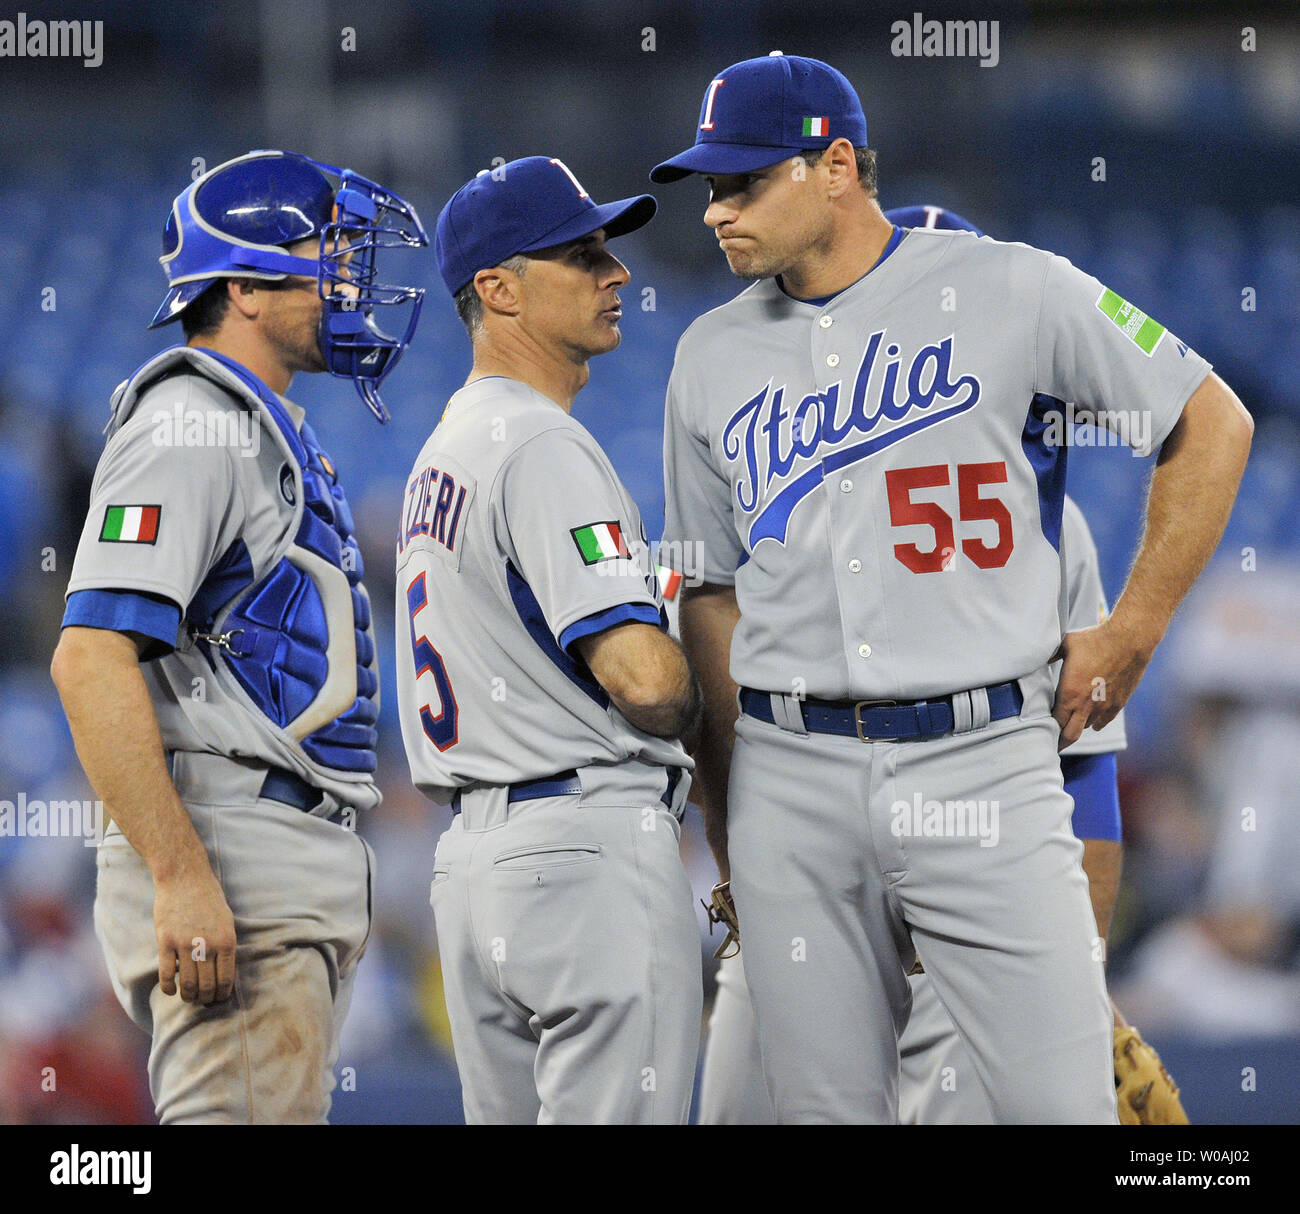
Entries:
<svg viewBox="0 0 1300 1214">
<path fill-rule="evenodd" d="M 663 626 L 636 503 L 586 429 L 504 377 L 458 391 L 407 484 L 398 539 L 396 664 L 415 784 L 465 785 L 607 766 L 664 793 L 680 742 L 633 727 L 575 642 Z"/>
</svg>

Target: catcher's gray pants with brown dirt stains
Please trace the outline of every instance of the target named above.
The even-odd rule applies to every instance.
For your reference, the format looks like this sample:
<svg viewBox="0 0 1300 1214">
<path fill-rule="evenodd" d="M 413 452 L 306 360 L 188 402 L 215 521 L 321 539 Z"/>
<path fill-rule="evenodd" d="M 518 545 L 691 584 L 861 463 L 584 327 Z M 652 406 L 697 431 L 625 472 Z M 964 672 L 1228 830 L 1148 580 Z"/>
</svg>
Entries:
<svg viewBox="0 0 1300 1214">
<path fill-rule="evenodd" d="M 374 855 L 346 825 L 259 799 L 264 776 L 208 754 L 178 754 L 173 768 L 234 914 L 235 987 L 221 1003 L 162 994 L 153 877 L 116 825 L 99 846 L 95 933 L 118 1001 L 152 1037 L 150 1091 L 164 1124 L 329 1117 Z"/>
</svg>

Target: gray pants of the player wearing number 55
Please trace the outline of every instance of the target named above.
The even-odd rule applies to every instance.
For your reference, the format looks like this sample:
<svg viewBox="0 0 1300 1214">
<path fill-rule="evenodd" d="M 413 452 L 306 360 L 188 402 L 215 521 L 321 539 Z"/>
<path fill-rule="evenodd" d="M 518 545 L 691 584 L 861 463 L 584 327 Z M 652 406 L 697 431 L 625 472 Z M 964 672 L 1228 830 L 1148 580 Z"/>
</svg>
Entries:
<svg viewBox="0 0 1300 1214">
<path fill-rule="evenodd" d="M 777 1120 L 897 1119 L 919 955 L 997 1122 L 1114 1124 L 1101 949 L 1045 685 L 1019 717 L 928 741 L 748 716 L 736 734 L 732 890 Z M 983 810 L 931 832 L 927 806 L 949 802 Z"/>
</svg>

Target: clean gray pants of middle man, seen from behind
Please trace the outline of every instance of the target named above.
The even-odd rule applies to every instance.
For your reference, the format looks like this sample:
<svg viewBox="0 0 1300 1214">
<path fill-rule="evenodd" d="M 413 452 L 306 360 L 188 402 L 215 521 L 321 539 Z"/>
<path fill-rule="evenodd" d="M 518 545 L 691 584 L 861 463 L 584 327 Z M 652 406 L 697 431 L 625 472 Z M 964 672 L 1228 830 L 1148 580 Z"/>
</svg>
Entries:
<svg viewBox="0 0 1300 1214">
<path fill-rule="evenodd" d="M 703 983 L 679 844 L 663 805 L 463 795 L 429 901 L 468 1123 L 685 1123 Z"/>
</svg>

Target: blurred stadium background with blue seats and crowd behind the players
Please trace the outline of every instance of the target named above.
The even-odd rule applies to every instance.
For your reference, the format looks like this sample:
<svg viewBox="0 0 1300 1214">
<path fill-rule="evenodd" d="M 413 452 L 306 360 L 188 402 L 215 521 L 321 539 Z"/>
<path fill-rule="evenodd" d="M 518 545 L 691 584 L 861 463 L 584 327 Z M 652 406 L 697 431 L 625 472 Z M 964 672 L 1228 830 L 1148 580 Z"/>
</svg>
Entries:
<svg viewBox="0 0 1300 1214">
<path fill-rule="evenodd" d="M 1128 710 L 1113 993 L 1193 1120 L 1300 1122 L 1300 19 L 1292 4 L 828 0 L 174 0 L 25 5 L 103 19 L 103 64 L 0 60 L 0 799 L 92 797 L 48 676 L 114 385 L 179 339 L 146 333 L 172 198 L 254 147 L 346 164 L 426 226 L 472 173 L 545 152 L 598 199 L 640 192 L 740 58 L 826 58 L 857 86 L 884 207 L 950 207 L 1067 256 L 1188 342 L 1256 419 L 1219 551 Z M 998 19 L 1000 58 L 890 55 L 890 23 Z M 0 17 L 12 18 L 12 13 Z M 1251 31 L 1251 32 L 1247 32 Z M 1100 161 L 1098 161 L 1100 157 Z M 1098 175 L 1098 164 L 1101 174 Z M 731 298 L 699 181 L 620 242 L 624 343 L 575 415 L 651 537 L 663 390 L 681 331 Z M 446 825 L 410 785 L 391 669 L 403 474 L 463 382 L 468 343 L 432 255 L 381 430 L 350 385 L 294 398 L 354 504 L 385 668 L 377 925 L 344 1033 L 339 1122 L 446 1122 L 459 1089 L 428 906 Z M 1122 408 L 1122 402 L 1114 403 Z M 1112 601 L 1149 464 L 1070 454 Z M 976 642 L 978 643 L 978 642 Z M 685 859 L 714 879 L 692 811 Z M 151 1118 L 146 1037 L 91 928 L 92 846 L 0 837 L 0 1122 Z M 707 938 L 702 950 L 708 966 Z M 52 1068 L 52 1070 L 51 1070 Z"/>
</svg>

